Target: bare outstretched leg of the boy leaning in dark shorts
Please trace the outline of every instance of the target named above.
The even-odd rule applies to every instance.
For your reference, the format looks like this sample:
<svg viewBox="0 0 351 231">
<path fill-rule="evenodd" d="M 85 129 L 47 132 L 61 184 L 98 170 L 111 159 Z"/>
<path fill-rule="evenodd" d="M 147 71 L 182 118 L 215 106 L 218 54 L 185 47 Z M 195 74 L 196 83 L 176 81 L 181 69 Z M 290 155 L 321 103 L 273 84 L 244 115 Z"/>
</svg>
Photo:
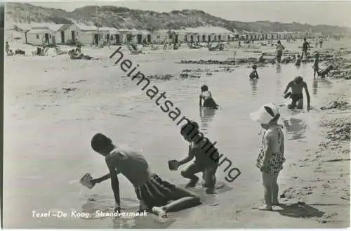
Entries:
<svg viewBox="0 0 351 231">
<path fill-rule="evenodd" d="M 166 218 L 168 212 L 180 211 L 201 204 L 201 200 L 197 195 L 179 187 L 176 189 L 174 199 L 176 200 L 164 206 L 154 206 L 152 212 L 156 213 L 160 218 Z"/>
</svg>

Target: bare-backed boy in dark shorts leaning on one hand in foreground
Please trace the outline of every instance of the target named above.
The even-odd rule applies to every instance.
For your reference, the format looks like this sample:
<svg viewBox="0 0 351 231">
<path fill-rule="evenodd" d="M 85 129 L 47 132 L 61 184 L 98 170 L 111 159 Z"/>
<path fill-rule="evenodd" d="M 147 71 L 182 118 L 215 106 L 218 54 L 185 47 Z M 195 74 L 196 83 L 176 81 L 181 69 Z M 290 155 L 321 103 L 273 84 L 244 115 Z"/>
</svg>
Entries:
<svg viewBox="0 0 351 231">
<path fill-rule="evenodd" d="M 200 198 L 192 192 L 168 183 L 157 174 L 152 173 L 145 157 L 141 154 L 114 145 L 112 140 L 102 133 L 93 136 L 91 147 L 95 152 L 105 157 L 107 167 L 110 170 L 110 173 L 91 180 L 91 183 L 95 185 L 111 178 L 116 202 L 114 211 L 121 211 L 117 177 L 119 173 L 124 175 L 134 186 L 136 196 L 140 200 L 140 210 L 152 211 L 160 218 L 165 218 L 168 211 L 178 211 L 201 204 Z M 169 203 L 170 201 L 173 202 Z"/>
</svg>

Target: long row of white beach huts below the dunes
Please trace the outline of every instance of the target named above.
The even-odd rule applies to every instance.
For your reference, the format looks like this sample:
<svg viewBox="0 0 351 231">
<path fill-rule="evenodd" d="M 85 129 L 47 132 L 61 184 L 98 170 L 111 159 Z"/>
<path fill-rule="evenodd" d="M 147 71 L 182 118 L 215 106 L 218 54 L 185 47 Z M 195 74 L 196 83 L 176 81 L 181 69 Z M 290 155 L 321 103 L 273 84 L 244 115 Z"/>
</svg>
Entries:
<svg viewBox="0 0 351 231">
<path fill-rule="evenodd" d="M 101 42 L 119 45 L 131 40 L 136 44 L 164 44 L 164 42 L 216 42 L 237 40 L 293 39 L 297 34 L 291 32 L 232 32 L 222 27 L 197 27 L 187 29 L 161 29 L 154 32 L 136 29 L 116 29 L 69 23 L 45 25 L 25 30 L 25 43 L 98 45 Z M 305 35 L 305 34 L 304 34 Z"/>
</svg>

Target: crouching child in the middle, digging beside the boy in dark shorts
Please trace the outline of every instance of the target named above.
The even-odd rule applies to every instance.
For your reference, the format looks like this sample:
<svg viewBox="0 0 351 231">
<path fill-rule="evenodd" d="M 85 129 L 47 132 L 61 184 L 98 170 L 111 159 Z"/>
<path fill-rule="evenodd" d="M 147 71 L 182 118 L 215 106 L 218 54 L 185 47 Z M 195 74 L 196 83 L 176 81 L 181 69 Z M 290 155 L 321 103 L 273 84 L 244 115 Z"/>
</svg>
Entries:
<svg viewBox="0 0 351 231">
<path fill-rule="evenodd" d="M 202 185 L 207 187 L 206 193 L 213 194 L 220 158 L 218 150 L 216 148 L 208 148 L 213 147 L 213 145 L 208 139 L 199 134 L 199 125 L 195 121 L 190 121 L 190 123 L 183 125 L 180 128 L 180 134 L 189 142 L 189 152 L 185 159 L 177 161 L 177 168 L 178 166 L 187 164 L 195 157 L 195 161 L 187 169 L 181 171 L 181 175 L 184 178 L 190 179 L 186 187 L 195 187 L 199 181 L 199 178 L 195 174 L 202 172 L 202 178 L 204 179 Z"/>
</svg>

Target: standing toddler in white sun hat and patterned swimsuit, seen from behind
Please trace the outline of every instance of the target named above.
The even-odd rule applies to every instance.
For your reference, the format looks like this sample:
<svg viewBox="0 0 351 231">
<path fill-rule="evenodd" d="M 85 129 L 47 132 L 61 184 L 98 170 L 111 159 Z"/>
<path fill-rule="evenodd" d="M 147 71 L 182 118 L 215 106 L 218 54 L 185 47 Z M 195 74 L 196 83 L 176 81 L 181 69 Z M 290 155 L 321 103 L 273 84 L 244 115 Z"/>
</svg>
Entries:
<svg viewBox="0 0 351 231">
<path fill-rule="evenodd" d="M 250 116 L 253 121 L 257 121 L 265 129 L 256 161 L 256 166 L 262 174 L 265 201 L 259 210 L 272 211 L 272 206 L 279 205 L 277 179 L 285 162 L 284 133 L 282 126 L 278 125 L 280 113 L 278 107 L 270 103 L 263 105 L 260 110 L 251 113 Z"/>
</svg>

